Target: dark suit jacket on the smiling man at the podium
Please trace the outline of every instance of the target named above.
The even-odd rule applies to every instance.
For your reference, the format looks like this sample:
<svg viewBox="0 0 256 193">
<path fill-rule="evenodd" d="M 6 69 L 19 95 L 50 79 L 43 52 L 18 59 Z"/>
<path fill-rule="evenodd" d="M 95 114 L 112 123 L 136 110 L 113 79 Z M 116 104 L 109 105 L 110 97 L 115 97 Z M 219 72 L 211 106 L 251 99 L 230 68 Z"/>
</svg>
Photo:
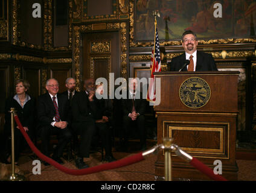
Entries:
<svg viewBox="0 0 256 193">
<path fill-rule="evenodd" d="M 218 71 L 216 63 L 214 62 L 213 55 L 205 52 L 197 51 L 196 53 L 196 71 Z M 182 68 L 186 60 L 186 54 L 181 54 L 174 57 L 171 60 L 171 71 L 179 71 Z M 182 71 L 188 71 L 187 67 L 184 67 Z"/>
</svg>

